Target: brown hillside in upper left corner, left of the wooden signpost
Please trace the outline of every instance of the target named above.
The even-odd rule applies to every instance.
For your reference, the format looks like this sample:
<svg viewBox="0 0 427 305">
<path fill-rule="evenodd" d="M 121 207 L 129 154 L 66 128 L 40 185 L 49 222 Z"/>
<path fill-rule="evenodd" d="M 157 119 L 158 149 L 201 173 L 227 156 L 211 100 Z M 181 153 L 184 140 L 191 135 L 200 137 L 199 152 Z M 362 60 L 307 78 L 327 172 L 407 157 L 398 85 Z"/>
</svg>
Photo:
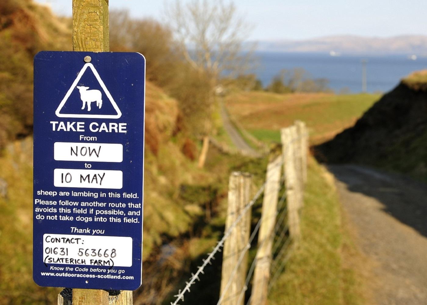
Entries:
<svg viewBox="0 0 427 305">
<path fill-rule="evenodd" d="M 0 148 L 32 132 L 32 60 L 40 50 L 70 50 L 71 29 L 32 0 L 0 1 Z"/>
</svg>

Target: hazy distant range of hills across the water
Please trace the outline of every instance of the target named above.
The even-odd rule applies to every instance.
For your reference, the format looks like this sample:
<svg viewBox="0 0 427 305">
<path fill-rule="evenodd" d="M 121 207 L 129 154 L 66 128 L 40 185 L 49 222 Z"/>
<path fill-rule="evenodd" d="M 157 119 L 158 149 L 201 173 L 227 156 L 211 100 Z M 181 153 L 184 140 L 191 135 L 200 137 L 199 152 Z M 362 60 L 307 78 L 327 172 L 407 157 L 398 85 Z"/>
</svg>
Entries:
<svg viewBox="0 0 427 305">
<path fill-rule="evenodd" d="M 427 36 L 402 35 L 387 38 L 353 35 L 308 40 L 257 41 L 257 50 L 271 52 L 321 52 L 343 54 L 407 54 L 427 56 Z"/>
</svg>

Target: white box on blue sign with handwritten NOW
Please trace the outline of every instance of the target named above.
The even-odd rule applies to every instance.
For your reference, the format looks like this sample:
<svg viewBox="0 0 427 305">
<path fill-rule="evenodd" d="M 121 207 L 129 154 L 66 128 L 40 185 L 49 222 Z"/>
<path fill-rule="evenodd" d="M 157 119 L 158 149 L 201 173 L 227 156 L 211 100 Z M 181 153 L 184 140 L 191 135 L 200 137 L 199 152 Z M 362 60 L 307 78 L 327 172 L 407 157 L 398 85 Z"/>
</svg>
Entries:
<svg viewBox="0 0 427 305">
<path fill-rule="evenodd" d="M 55 142 L 54 158 L 57 161 L 122 162 L 123 145 Z"/>
</svg>

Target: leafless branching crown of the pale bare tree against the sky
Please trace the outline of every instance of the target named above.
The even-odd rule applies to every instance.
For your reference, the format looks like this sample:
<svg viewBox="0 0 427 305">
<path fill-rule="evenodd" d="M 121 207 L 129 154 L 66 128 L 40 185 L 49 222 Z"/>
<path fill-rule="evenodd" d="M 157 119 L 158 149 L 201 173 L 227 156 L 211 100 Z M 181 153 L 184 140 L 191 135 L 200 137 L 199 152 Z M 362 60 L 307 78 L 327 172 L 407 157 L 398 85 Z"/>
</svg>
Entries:
<svg viewBox="0 0 427 305">
<path fill-rule="evenodd" d="M 207 73 L 212 85 L 224 74 L 237 76 L 248 68 L 252 53 L 244 50 L 243 42 L 251 28 L 232 2 L 175 0 L 166 12 L 184 58 Z"/>
</svg>

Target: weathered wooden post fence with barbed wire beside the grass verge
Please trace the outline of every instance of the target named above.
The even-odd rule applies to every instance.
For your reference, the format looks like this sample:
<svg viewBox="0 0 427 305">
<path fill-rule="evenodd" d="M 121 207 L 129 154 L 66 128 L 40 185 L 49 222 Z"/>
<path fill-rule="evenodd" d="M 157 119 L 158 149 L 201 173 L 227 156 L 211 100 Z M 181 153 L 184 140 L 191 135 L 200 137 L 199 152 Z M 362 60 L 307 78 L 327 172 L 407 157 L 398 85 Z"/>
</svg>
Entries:
<svg viewBox="0 0 427 305">
<path fill-rule="evenodd" d="M 304 205 L 308 155 L 305 123 L 295 121 L 294 125 L 282 129 L 281 143 L 281 153 L 270 155 L 265 183 L 255 196 L 251 197 L 251 174 L 231 173 L 224 237 L 197 272 L 192 273 L 184 289 L 178 291 L 172 305 L 184 301 L 184 294 L 190 292 L 196 280 L 201 280 L 203 270 L 221 247 L 224 249 L 217 305 L 243 305 L 245 299 L 247 305 L 267 304 L 269 290 L 302 238 L 300 214 Z M 261 216 L 251 232 L 252 206 L 261 194 Z M 248 253 L 256 237 L 257 251 L 249 267 Z M 250 283 L 252 290 L 248 295 Z"/>
</svg>

